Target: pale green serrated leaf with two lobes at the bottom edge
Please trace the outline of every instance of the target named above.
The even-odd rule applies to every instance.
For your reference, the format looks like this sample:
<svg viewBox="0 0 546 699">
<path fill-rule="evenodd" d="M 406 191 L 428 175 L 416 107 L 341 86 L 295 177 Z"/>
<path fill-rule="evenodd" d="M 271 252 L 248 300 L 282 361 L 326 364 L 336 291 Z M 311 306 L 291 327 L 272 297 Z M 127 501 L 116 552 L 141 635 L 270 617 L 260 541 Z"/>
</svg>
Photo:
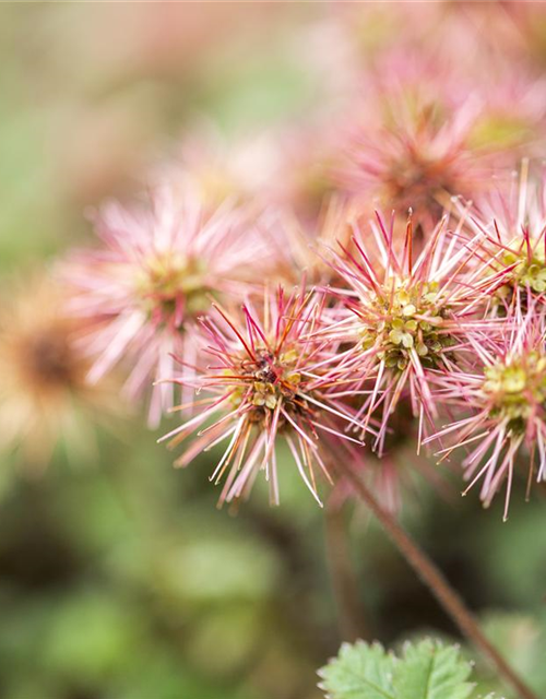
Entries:
<svg viewBox="0 0 546 699">
<path fill-rule="evenodd" d="M 471 666 L 459 648 L 425 639 L 397 659 L 379 643 L 344 643 L 319 675 L 330 699 L 468 699 Z"/>
</svg>

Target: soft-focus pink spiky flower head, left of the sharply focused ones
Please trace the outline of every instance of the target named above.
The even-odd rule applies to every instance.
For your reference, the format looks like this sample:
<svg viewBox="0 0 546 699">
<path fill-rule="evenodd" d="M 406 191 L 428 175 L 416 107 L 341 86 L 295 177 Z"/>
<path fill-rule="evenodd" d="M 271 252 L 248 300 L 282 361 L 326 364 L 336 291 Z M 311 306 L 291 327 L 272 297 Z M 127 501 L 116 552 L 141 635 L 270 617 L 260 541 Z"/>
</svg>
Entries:
<svg viewBox="0 0 546 699">
<path fill-rule="evenodd" d="M 197 191 L 157 187 L 151 205 L 106 205 L 95 216 L 102 246 L 80 251 L 63 274 L 74 292 L 71 310 L 92 319 L 82 339 L 94 357 L 88 378 L 129 367 L 126 389 L 139 398 L 154 380 L 173 376 L 173 355 L 195 364 L 197 317 L 210 297 L 242 298 L 261 244 L 244 214 L 225 203 L 210 214 Z M 191 399 L 187 391 L 183 400 Z M 156 426 L 175 401 L 157 383 L 149 422 Z"/>
</svg>

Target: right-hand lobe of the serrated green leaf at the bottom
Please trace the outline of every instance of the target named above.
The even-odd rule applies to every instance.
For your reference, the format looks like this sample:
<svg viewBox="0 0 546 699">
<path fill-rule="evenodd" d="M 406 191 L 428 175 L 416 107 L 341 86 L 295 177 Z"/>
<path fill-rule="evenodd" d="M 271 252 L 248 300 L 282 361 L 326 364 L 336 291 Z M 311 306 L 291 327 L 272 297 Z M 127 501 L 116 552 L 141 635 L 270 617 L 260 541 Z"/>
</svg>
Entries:
<svg viewBox="0 0 546 699">
<path fill-rule="evenodd" d="M 471 666 L 459 649 L 425 639 L 407 643 L 394 668 L 395 699 L 467 699 L 473 685 L 466 682 Z"/>
</svg>

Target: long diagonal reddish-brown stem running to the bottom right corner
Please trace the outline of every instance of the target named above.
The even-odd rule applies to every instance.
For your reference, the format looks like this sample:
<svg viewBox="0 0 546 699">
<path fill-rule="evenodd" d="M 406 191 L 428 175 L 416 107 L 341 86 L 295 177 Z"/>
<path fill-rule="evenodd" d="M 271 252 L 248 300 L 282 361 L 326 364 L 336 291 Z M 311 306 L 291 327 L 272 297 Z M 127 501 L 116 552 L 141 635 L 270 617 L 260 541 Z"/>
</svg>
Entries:
<svg viewBox="0 0 546 699">
<path fill-rule="evenodd" d="M 340 471 L 339 467 L 336 470 Z M 351 482 L 360 499 L 369 507 L 388 536 L 396 545 L 420 580 L 428 587 L 443 609 L 459 626 L 462 633 L 491 661 L 499 675 L 517 690 L 520 699 L 538 699 L 486 638 L 473 614 L 466 607 L 459 593 L 451 588 L 436 564 L 417 546 L 392 514 L 381 506 L 363 479 L 351 467 L 343 469 L 343 475 Z"/>
</svg>

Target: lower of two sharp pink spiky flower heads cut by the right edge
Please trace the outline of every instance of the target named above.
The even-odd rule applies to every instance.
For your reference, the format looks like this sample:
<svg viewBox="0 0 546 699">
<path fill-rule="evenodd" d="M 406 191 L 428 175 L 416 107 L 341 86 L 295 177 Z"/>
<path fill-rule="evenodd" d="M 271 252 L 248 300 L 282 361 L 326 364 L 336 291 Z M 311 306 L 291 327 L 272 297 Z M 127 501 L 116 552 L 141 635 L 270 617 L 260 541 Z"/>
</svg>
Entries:
<svg viewBox="0 0 546 699">
<path fill-rule="evenodd" d="M 468 488 L 482 482 L 486 506 L 506 482 L 505 519 L 515 469 L 527 469 L 530 486 L 534 478 L 546 479 L 546 325 L 537 300 L 529 300 L 522 313 L 521 296 L 517 288 L 515 309 L 500 336 L 471 339 L 479 365 L 453 371 L 442 391 L 442 401 L 459 417 L 431 437 L 452 438 L 442 458 L 466 447 L 464 477 Z"/>
</svg>

